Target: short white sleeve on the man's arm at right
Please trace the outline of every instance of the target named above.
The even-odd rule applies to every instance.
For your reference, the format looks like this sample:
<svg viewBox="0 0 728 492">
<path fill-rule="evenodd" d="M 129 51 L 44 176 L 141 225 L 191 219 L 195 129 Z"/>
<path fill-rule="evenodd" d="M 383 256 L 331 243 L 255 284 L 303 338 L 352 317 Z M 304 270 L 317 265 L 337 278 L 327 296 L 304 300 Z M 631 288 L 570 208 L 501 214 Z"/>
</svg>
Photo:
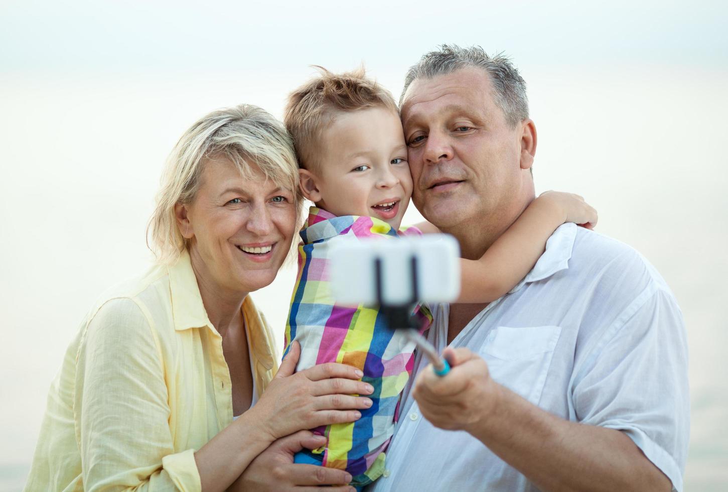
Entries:
<svg viewBox="0 0 728 492">
<path fill-rule="evenodd" d="M 618 429 L 683 488 L 689 441 L 687 336 L 665 288 L 652 284 L 598 340 L 572 387 L 577 421 Z"/>
</svg>

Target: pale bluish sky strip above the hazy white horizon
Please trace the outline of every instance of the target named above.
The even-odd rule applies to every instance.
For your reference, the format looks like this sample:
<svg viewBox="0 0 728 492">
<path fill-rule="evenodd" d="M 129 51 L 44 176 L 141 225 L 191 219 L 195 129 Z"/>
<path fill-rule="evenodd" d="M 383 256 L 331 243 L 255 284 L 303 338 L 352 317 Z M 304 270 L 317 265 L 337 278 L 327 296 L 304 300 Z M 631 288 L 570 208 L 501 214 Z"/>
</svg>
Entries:
<svg viewBox="0 0 728 492">
<path fill-rule="evenodd" d="M 275 71 L 365 60 L 389 71 L 440 42 L 505 50 L 531 65 L 728 67 L 724 1 L 204 3 L 4 0 L 0 70 Z"/>
</svg>

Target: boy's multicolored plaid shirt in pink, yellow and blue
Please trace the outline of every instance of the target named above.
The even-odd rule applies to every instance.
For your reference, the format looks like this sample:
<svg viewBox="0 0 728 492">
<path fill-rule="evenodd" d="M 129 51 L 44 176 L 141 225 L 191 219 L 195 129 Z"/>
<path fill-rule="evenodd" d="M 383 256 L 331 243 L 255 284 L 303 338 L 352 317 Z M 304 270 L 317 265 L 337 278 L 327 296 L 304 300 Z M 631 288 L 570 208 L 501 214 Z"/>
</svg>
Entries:
<svg viewBox="0 0 728 492">
<path fill-rule="evenodd" d="M 355 238 L 397 238 L 422 234 L 416 227 L 400 231 L 368 216 L 335 216 L 316 207 L 301 230 L 298 246 L 298 278 L 290 301 L 285 327 L 285 351 L 293 340 L 301 343 L 296 370 L 316 364 L 339 362 L 364 372 L 363 381 L 374 387 L 373 404 L 361 410 L 353 423 L 333 424 L 314 429 L 328 437 L 323 466 L 346 469 L 352 485 L 365 485 L 384 471 L 384 449 L 395 429 L 400 394 L 414 364 L 414 343 L 401 330 L 390 329 L 379 309 L 359 305 L 337 305 L 328 281 L 329 239 L 340 235 Z M 430 327 L 430 310 L 419 305 L 415 315 L 422 331 Z"/>
</svg>

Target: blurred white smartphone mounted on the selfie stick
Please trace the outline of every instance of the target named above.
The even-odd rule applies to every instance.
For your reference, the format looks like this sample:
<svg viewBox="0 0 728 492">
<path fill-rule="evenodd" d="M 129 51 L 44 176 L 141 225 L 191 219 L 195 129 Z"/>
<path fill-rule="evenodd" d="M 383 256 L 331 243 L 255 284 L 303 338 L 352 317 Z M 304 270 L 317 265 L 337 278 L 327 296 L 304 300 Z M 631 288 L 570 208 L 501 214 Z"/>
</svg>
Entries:
<svg viewBox="0 0 728 492">
<path fill-rule="evenodd" d="M 331 241 L 331 292 L 349 305 L 451 302 L 460 293 L 460 247 L 449 234 Z"/>
</svg>

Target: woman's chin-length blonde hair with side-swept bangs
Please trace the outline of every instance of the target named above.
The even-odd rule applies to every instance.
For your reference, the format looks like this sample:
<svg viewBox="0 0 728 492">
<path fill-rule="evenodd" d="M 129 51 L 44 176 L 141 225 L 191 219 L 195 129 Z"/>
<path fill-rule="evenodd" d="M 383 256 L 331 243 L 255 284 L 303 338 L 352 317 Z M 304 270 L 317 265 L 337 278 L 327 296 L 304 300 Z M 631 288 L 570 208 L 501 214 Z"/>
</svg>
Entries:
<svg viewBox="0 0 728 492">
<path fill-rule="evenodd" d="M 167 158 L 157 207 L 147 227 L 147 246 L 159 263 L 175 262 L 187 247 L 177 226 L 175 205 L 194 201 L 205 163 L 215 158 L 234 163 L 244 179 L 259 168 L 266 179 L 293 192 L 298 224 L 302 204 L 298 163 L 285 127 L 251 104 L 218 109 L 192 125 Z"/>
</svg>

